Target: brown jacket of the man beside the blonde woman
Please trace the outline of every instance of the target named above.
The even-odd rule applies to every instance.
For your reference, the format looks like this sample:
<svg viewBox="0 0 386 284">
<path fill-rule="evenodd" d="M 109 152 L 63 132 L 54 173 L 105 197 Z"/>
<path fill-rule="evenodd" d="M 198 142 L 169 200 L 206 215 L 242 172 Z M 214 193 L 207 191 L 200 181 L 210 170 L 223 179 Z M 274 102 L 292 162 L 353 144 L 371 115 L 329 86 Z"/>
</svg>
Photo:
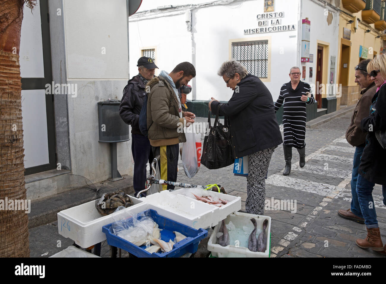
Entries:
<svg viewBox="0 0 386 284">
<path fill-rule="evenodd" d="M 358 100 L 357 106 L 351 117 L 351 124 L 346 131 L 347 142 L 352 146 L 365 146 L 367 133 L 362 132 L 361 120 L 369 116 L 371 100 L 376 92 L 377 86 L 374 82 L 361 92 L 362 97 Z"/>
</svg>

